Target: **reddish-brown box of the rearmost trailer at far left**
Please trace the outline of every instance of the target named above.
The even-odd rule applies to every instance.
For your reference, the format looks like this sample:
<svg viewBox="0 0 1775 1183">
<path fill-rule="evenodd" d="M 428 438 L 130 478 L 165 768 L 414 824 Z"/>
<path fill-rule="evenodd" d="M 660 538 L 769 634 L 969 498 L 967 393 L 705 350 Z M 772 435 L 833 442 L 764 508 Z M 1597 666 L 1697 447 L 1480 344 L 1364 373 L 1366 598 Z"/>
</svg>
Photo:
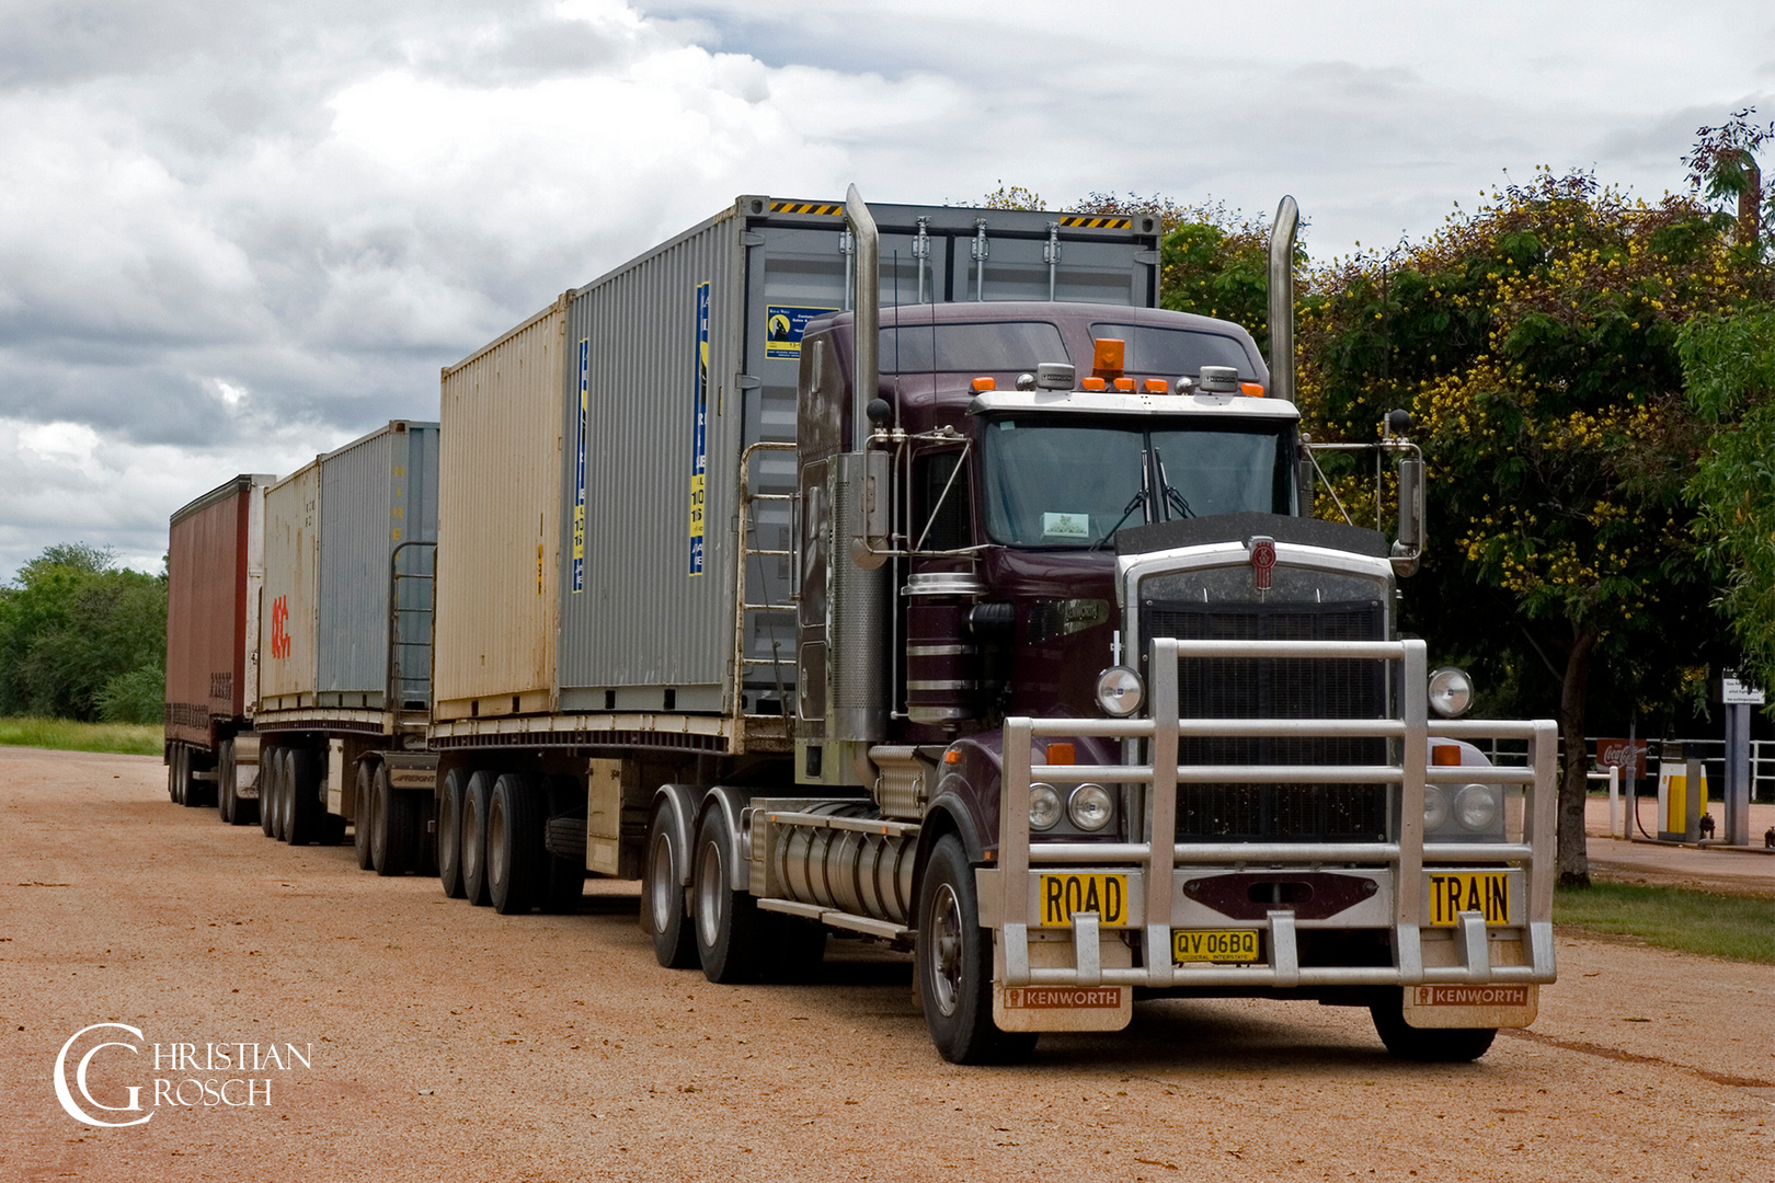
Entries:
<svg viewBox="0 0 1775 1183">
<path fill-rule="evenodd" d="M 243 474 L 172 514 L 167 537 L 167 741 L 209 750 L 252 709 L 261 490 Z"/>
</svg>

